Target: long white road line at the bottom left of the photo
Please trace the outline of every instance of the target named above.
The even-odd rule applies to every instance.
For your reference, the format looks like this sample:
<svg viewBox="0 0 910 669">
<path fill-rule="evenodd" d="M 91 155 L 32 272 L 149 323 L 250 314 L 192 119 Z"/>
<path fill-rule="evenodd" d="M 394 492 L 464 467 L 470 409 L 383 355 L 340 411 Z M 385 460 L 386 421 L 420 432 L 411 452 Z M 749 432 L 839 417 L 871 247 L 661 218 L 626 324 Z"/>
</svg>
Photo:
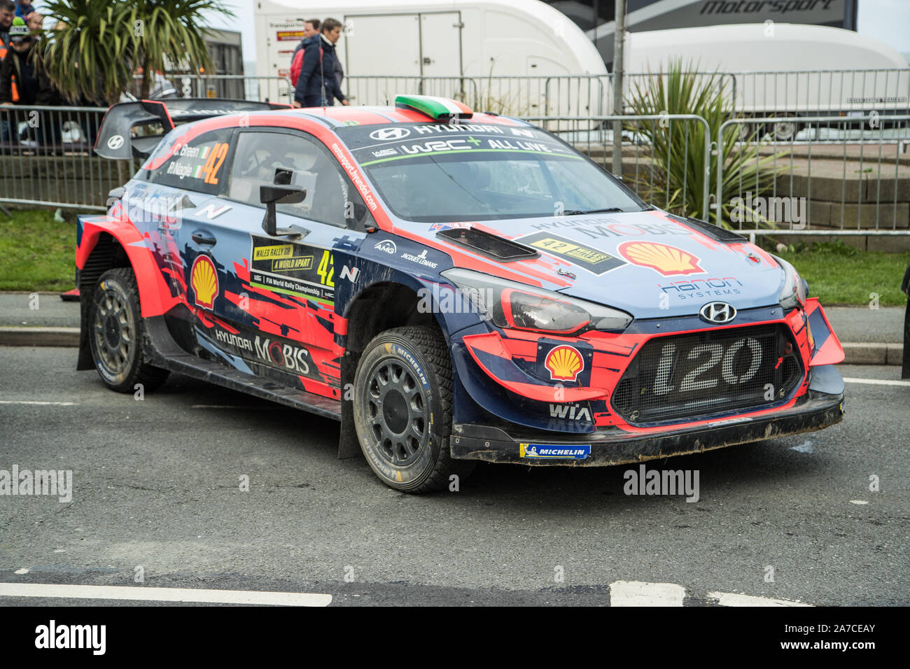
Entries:
<svg viewBox="0 0 910 669">
<path fill-rule="evenodd" d="M 0 583 L 0 597 L 57 597 L 64 599 L 113 599 L 139 602 L 205 602 L 223 604 L 273 604 L 277 606 L 328 606 L 330 594 L 268 593 L 252 590 L 197 590 L 147 588 L 124 585 L 57 585 L 54 583 Z"/>
</svg>

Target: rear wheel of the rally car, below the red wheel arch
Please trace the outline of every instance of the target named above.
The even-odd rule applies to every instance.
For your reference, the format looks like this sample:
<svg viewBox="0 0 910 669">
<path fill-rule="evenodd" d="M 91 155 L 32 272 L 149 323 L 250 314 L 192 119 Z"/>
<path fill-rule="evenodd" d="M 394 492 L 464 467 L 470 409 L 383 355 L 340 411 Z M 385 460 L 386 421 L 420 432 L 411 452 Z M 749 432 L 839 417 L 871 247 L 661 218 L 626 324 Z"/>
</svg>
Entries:
<svg viewBox="0 0 910 669">
<path fill-rule="evenodd" d="M 167 370 L 142 360 L 142 315 L 132 269 L 101 275 L 88 306 L 88 344 L 98 376 L 111 390 L 134 392 L 137 383 L 153 390 L 167 379 Z"/>
</svg>

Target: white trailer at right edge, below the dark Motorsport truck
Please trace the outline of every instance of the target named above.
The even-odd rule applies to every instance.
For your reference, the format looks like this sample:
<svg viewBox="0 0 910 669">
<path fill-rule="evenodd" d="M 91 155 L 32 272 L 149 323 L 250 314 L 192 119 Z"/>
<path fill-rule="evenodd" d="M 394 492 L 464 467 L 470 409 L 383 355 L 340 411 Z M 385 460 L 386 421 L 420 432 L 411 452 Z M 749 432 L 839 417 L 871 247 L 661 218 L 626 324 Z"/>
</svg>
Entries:
<svg viewBox="0 0 910 669">
<path fill-rule="evenodd" d="M 632 82 L 673 60 L 729 73 L 734 110 L 751 116 L 906 113 L 910 67 L 895 49 L 824 25 L 743 24 L 630 33 Z"/>
</svg>

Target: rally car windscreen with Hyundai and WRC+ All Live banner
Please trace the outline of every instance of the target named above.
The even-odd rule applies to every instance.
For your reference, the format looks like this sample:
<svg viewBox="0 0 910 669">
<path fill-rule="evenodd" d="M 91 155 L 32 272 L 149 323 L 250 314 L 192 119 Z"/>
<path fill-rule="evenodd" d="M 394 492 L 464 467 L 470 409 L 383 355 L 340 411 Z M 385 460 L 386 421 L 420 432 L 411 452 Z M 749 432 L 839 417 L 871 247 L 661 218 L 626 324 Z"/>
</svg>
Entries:
<svg viewBox="0 0 910 669">
<path fill-rule="evenodd" d="M 407 124 L 338 133 L 399 218 L 440 223 L 642 209 L 600 167 L 536 128 Z"/>
</svg>

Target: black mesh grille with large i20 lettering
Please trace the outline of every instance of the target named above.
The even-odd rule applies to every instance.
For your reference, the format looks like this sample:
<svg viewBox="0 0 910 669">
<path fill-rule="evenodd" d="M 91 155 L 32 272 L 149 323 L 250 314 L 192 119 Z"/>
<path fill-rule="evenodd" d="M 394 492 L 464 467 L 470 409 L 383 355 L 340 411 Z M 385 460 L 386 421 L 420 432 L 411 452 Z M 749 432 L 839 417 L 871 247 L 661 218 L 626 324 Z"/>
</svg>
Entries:
<svg viewBox="0 0 910 669">
<path fill-rule="evenodd" d="M 612 405 L 632 423 L 697 419 L 784 400 L 802 378 L 782 326 L 670 335 L 642 347 Z"/>
</svg>

